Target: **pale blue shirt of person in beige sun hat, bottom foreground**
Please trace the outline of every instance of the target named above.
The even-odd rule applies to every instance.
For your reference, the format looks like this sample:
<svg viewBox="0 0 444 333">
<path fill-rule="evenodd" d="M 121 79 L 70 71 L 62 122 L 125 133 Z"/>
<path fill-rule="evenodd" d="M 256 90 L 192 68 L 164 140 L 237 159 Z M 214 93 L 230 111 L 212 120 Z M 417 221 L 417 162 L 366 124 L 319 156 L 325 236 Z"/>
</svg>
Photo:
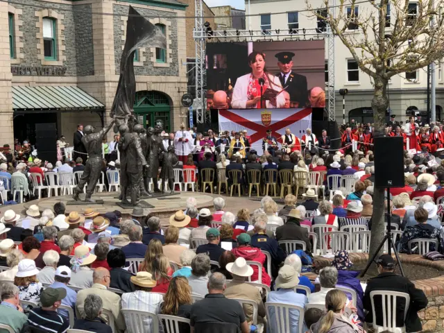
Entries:
<svg viewBox="0 0 444 333">
<path fill-rule="evenodd" d="M 271 293 L 268 293 L 268 298 L 266 301 L 297 305 L 298 307 L 302 307 L 302 309 L 304 309 L 305 305 L 308 303 L 307 296 L 302 295 L 301 293 L 296 293 L 293 291 L 293 289 L 279 289 L 278 291 L 271 291 Z M 269 311 L 270 316 L 269 318 L 267 318 L 268 325 L 274 329 L 271 330 L 272 332 L 277 332 L 277 323 L 275 319 L 274 309 L 271 308 L 269 309 Z M 304 320 L 304 318 L 299 318 L 299 311 L 295 309 L 290 309 L 289 312 L 291 329 L 289 329 L 289 327 L 285 327 L 284 331 L 292 333 L 306 332 L 307 327 L 305 327 L 305 323 L 302 328 L 302 332 L 299 332 L 298 330 L 299 319 L 301 321 Z"/>
</svg>

